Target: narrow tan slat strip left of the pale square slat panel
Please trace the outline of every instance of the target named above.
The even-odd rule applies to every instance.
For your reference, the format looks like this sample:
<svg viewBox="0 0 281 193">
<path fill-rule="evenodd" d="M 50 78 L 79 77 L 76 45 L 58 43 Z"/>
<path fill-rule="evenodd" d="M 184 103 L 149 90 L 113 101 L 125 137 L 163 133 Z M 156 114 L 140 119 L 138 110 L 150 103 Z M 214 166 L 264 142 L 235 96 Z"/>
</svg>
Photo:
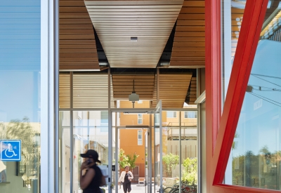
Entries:
<svg viewBox="0 0 281 193">
<path fill-rule="evenodd" d="M 70 73 L 60 73 L 59 107 L 70 108 Z"/>
</svg>

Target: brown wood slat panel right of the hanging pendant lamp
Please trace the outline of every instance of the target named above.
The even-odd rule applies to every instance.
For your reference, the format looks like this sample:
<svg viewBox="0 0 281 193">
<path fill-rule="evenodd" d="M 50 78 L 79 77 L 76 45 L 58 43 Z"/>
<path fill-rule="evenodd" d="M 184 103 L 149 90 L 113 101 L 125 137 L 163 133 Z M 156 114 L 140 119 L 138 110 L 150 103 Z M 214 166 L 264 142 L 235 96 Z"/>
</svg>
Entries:
<svg viewBox="0 0 281 193">
<path fill-rule="evenodd" d="M 185 102 L 192 73 L 159 74 L 159 99 L 163 108 L 182 108 Z M 152 106 L 157 105 L 157 88 L 153 93 Z"/>
</svg>

